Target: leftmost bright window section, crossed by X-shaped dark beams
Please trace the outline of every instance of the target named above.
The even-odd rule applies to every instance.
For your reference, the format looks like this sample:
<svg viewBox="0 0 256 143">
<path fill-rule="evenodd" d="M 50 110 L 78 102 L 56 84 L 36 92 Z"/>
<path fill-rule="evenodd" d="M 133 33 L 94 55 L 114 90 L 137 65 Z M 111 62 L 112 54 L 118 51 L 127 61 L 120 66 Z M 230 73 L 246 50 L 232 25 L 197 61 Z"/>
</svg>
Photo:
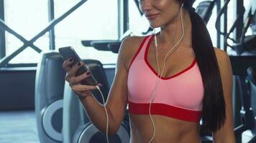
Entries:
<svg viewBox="0 0 256 143">
<path fill-rule="evenodd" d="M 33 0 L 6 0 L 4 1 L 5 23 L 25 39 L 32 39 L 37 33 L 47 26 L 47 1 Z M 16 36 L 6 32 L 6 56 L 12 54 L 23 42 L 17 39 Z M 35 45 L 42 50 L 48 49 L 49 39 L 45 34 Z M 31 48 L 27 48 L 17 57 L 9 61 L 10 64 L 32 63 L 38 59 L 39 54 L 36 54 Z"/>
</svg>

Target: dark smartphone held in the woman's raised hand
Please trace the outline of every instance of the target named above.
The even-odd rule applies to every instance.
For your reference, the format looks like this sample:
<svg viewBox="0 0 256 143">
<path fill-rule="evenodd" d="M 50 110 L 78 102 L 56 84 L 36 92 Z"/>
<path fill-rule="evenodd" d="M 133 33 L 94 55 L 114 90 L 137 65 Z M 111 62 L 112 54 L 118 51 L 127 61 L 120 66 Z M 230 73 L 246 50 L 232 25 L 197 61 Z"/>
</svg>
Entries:
<svg viewBox="0 0 256 143">
<path fill-rule="evenodd" d="M 76 54 L 76 51 L 71 47 L 71 46 L 65 46 L 59 49 L 60 55 L 63 57 L 64 60 L 67 60 L 69 58 L 73 58 L 73 63 L 70 64 L 70 67 L 74 66 L 77 64 L 79 61 L 83 62 L 78 54 Z M 90 67 L 87 66 L 86 64 L 83 64 L 78 71 L 76 72 L 76 77 L 85 73 L 86 71 L 91 71 Z M 97 80 L 93 77 L 93 74 L 91 73 L 91 76 L 87 77 L 86 79 L 83 79 L 81 84 L 84 85 L 92 85 L 96 86 L 98 84 Z"/>
</svg>

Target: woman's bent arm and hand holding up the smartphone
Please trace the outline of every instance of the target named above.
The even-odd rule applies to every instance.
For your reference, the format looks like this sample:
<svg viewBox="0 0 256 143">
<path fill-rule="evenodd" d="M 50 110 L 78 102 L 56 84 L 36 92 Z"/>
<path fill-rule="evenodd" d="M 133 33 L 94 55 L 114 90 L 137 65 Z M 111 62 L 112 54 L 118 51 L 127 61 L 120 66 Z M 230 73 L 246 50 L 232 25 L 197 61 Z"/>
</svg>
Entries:
<svg viewBox="0 0 256 143">
<path fill-rule="evenodd" d="M 116 74 L 114 77 L 114 82 L 109 91 L 109 97 L 106 102 L 106 110 L 109 117 L 109 135 L 115 134 L 119 129 L 119 126 L 124 119 L 124 114 L 127 109 L 127 48 L 129 44 L 132 43 L 132 38 L 127 38 L 122 42 L 119 50 L 119 55 L 116 63 Z M 74 70 L 75 71 L 75 70 Z M 73 75 L 73 74 L 71 74 Z M 77 79 L 67 79 L 67 81 L 79 82 L 81 79 L 85 78 L 83 76 L 76 77 Z M 72 76 L 73 77 L 73 76 Z M 73 77 L 75 78 L 75 77 Z M 86 109 L 91 122 L 102 132 L 106 132 L 106 112 L 104 106 L 99 104 L 96 99 L 93 98 L 91 89 L 95 89 L 93 86 L 86 86 L 81 84 L 75 84 L 71 86 L 74 92 L 78 94 L 83 107 Z"/>
</svg>

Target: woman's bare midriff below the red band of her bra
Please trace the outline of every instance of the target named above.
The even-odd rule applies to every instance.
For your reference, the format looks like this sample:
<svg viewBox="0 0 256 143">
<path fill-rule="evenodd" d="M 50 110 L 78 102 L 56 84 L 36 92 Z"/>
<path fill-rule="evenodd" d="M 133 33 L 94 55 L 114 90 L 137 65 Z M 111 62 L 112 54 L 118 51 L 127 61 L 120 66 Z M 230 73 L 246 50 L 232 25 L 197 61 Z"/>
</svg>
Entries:
<svg viewBox="0 0 256 143">
<path fill-rule="evenodd" d="M 153 135 L 153 126 L 149 115 L 129 114 L 130 143 L 148 143 Z M 152 143 L 199 143 L 198 124 L 186 122 L 162 115 L 152 115 L 155 123 L 155 137 Z"/>
</svg>

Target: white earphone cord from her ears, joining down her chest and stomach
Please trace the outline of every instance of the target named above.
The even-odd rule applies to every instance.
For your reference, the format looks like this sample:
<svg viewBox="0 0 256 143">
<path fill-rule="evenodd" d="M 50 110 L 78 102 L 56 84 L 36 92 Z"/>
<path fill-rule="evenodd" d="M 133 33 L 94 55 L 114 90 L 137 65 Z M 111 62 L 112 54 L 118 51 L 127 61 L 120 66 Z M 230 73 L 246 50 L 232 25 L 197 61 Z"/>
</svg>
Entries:
<svg viewBox="0 0 256 143">
<path fill-rule="evenodd" d="M 150 142 L 152 142 L 152 140 L 154 139 L 155 137 L 155 123 L 154 123 L 154 120 L 152 119 L 152 115 L 151 115 L 151 104 L 152 102 L 154 101 L 155 99 L 155 94 L 157 92 L 157 89 L 158 89 L 158 86 L 159 86 L 159 82 L 160 82 L 160 77 L 163 76 L 163 71 L 165 70 L 165 61 L 168 57 L 169 54 L 172 54 L 176 49 L 178 49 L 178 44 L 180 43 L 180 41 L 183 39 L 183 36 L 184 36 L 184 26 L 183 26 L 183 15 L 182 15 L 182 9 L 183 9 L 183 4 L 181 4 L 181 7 L 180 7 L 180 21 L 181 21 L 181 27 L 182 27 L 182 35 L 180 36 L 180 39 L 177 41 L 177 43 L 168 51 L 168 53 L 165 55 L 165 59 L 164 59 L 164 62 L 163 62 L 163 70 L 161 71 L 161 74 L 159 75 L 160 73 L 160 67 L 159 67 L 159 64 L 158 64 L 158 55 L 157 55 L 157 36 L 155 34 L 155 29 L 154 29 L 154 40 L 155 40 L 155 53 L 156 53 L 156 61 L 157 61 L 157 82 L 155 84 L 155 88 L 154 88 L 154 91 L 152 92 L 152 95 L 151 95 L 151 99 L 150 99 L 150 107 L 149 107 L 149 113 L 150 113 L 150 119 L 151 119 L 151 122 L 152 122 L 152 125 L 153 125 L 153 135 L 152 135 L 152 138 L 150 139 Z M 150 143 L 149 142 L 149 143 Z"/>
</svg>

